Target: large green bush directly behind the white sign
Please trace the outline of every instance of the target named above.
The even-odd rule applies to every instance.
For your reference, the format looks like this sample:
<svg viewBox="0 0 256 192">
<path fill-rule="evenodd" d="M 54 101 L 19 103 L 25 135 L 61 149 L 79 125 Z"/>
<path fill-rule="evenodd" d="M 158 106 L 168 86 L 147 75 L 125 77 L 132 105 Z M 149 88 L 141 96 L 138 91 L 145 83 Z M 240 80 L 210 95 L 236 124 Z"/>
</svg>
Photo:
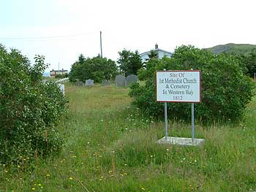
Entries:
<svg viewBox="0 0 256 192">
<path fill-rule="evenodd" d="M 148 116 L 164 118 L 164 104 L 156 102 L 154 72 L 157 70 L 201 70 L 202 102 L 195 104 L 195 118 L 203 122 L 238 120 L 254 93 L 252 79 L 247 77 L 232 55 L 213 55 L 208 50 L 181 46 L 172 58 L 151 59 L 139 78 L 146 85 L 133 84 L 129 95 L 133 104 Z M 189 121 L 191 104 L 168 103 L 168 117 Z"/>
</svg>

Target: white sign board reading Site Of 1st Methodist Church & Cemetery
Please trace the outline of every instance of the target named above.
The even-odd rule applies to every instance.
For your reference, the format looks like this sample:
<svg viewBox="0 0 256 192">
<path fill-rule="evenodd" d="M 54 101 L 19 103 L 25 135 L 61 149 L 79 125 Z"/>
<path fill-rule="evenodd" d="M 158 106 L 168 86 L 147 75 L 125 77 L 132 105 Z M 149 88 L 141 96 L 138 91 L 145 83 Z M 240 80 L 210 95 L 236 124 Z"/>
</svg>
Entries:
<svg viewBox="0 0 256 192">
<path fill-rule="evenodd" d="M 157 101 L 199 103 L 200 77 L 199 70 L 156 72 Z"/>
</svg>

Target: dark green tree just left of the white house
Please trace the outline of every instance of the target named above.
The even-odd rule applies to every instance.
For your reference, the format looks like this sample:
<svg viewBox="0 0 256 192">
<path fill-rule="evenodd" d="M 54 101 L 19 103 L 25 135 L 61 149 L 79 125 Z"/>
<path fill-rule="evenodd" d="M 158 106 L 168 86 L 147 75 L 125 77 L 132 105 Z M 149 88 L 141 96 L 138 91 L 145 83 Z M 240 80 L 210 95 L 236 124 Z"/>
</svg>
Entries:
<svg viewBox="0 0 256 192">
<path fill-rule="evenodd" d="M 130 50 L 122 50 L 118 52 L 120 58 L 118 58 L 117 63 L 120 64 L 121 73 L 125 76 L 129 74 L 137 74 L 138 70 L 143 67 L 142 61 L 138 50 L 132 52 Z"/>
</svg>

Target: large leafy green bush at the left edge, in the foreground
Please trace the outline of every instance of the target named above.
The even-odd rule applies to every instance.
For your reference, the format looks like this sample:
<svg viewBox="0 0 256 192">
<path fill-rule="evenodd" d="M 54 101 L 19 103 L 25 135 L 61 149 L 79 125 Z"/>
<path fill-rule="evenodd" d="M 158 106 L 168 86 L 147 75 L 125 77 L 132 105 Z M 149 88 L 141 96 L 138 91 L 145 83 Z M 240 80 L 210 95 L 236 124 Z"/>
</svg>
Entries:
<svg viewBox="0 0 256 192">
<path fill-rule="evenodd" d="M 0 45 L 0 162 L 46 155 L 61 148 L 55 129 L 67 99 L 55 82 L 43 82 L 47 67 L 37 55 L 31 66 L 17 50 Z"/>
</svg>

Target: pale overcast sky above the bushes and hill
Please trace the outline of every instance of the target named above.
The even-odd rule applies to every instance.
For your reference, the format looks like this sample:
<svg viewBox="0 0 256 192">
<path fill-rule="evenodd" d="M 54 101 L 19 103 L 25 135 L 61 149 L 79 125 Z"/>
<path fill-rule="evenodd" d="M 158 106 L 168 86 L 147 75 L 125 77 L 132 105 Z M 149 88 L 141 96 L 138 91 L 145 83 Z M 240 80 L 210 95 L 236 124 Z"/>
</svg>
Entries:
<svg viewBox="0 0 256 192">
<path fill-rule="evenodd" d="M 0 43 L 47 71 L 70 69 L 83 53 L 116 61 L 118 51 L 180 45 L 204 48 L 230 42 L 256 45 L 255 0 L 1 0 Z"/>
</svg>

